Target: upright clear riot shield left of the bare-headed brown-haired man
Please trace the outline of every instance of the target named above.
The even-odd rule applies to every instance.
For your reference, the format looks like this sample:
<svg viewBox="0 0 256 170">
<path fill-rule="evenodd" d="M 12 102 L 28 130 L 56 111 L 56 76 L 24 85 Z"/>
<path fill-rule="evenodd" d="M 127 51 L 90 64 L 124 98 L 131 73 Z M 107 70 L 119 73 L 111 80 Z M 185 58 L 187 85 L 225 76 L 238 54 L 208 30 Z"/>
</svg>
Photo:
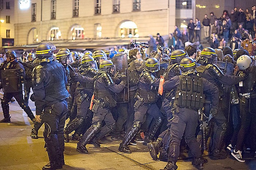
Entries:
<svg viewBox="0 0 256 170">
<path fill-rule="evenodd" d="M 112 58 L 112 62 L 115 65 L 116 71 L 119 74 L 125 74 L 127 76 L 127 82 L 128 82 L 128 63 L 127 63 L 127 54 L 126 53 L 120 53 L 117 54 Z M 123 103 L 123 102 L 129 102 L 129 95 L 128 95 L 128 83 L 127 87 L 124 88 L 123 91 L 121 91 L 119 94 L 114 95 L 114 99 L 117 103 Z"/>
</svg>

